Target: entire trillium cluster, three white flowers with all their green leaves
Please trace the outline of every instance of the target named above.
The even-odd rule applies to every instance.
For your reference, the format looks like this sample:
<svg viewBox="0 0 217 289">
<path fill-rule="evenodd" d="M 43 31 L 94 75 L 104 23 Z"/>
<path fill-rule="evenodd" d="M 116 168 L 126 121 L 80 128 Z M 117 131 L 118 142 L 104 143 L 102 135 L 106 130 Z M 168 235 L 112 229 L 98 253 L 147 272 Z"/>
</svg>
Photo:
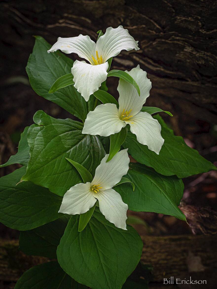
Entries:
<svg viewBox="0 0 217 289">
<path fill-rule="evenodd" d="M 143 243 L 126 225 L 127 209 L 186 221 L 180 178 L 216 169 L 151 116 L 170 112 L 143 106 L 151 89 L 145 71 L 110 71 L 113 57 L 136 53 L 138 41 L 122 26 L 98 34 L 96 43 L 79 35 L 52 47 L 35 37 L 26 67 L 32 88 L 78 120 L 39 110 L 16 155 L 0 165 L 23 166 L 0 179 L 0 221 L 21 230 L 24 253 L 58 260 L 26 271 L 15 289 L 147 288 L 147 280 L 128 277 Z M 109 76 L 120 79 L 118 101 L 107 92 Z"/>
</svg>

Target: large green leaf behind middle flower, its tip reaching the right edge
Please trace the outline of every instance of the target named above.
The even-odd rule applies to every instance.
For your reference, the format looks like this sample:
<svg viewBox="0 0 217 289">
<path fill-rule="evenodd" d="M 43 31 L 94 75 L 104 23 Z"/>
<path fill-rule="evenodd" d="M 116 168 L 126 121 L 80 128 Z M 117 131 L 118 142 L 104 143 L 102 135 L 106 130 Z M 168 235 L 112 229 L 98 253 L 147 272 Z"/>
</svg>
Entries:
<svg viewBox="0 0 217 289">
<path fill-rule="evenodd" d="M 137 142 L 135 134 L 131 132 L 128 132 L 123 144 L 123 147 L 128 148 L 128 153 L 137 162 L 154 168 L 162 175 L 177 175 L 179 178 L 217 169 L 211 162 L 199 155 L 198 151 L 188 147 L 181 136 L 174 136 L 172 129 L 168 128 L 159 115 L 154 118 L 159 121 L 161 136 L 164 138 L 159 155 L 150 151 L 146 145 Z"/>
</svg>

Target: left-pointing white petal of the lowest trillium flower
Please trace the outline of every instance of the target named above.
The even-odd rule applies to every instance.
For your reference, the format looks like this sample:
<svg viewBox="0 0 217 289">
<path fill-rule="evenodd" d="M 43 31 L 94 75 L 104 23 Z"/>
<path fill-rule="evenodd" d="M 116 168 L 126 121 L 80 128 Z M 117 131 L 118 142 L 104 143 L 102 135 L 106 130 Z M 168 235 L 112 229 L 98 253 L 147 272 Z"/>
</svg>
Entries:
<svg viewBox="0 0 217 289">
<path fill-rule="evenodd" d="M 77 184 L 63 196 L 59 213 L 75 215 L 86 213 L 96 202 L 90 191 L 91 184 Z"/>
</svg>

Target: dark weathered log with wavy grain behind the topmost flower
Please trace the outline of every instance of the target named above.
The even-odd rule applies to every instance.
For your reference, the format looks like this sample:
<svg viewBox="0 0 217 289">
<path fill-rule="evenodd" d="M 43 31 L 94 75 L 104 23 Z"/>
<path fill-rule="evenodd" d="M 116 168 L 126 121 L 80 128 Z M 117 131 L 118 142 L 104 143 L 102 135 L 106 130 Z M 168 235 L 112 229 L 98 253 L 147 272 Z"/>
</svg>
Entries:
<svg viewBox="0 0 217 289">
<path fill-rule="evenodd" d="M 50 43 L 80 33 L 96 40 L 97 30 L 123 25 L 139 40 L 140 50 L 123 51 L 113 68 L 140 64 L 148 72 L 152 97 L 147 105 L 160 103 L 174 114 L 216 123 L 216 0 L 23 0 L 0 5 L 5 60 L 0 69 L 6 77 L 25 75 L 32 35 Z"/>
</svg>

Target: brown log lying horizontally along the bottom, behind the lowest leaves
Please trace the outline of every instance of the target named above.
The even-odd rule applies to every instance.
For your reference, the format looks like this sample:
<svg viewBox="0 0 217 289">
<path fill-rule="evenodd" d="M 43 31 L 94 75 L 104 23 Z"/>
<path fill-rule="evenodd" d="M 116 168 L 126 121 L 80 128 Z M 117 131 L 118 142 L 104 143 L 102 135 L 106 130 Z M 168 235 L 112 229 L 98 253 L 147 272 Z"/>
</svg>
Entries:
<svg viewBox="0 0 217 289">
<path fill-rule="evenodd" d="M 141 262 L 151 264 L 153 267 L 150 288 L 161 288 L 163 278 L 170 276 L 174 276 L 174 279 L 177 277 L 187 280 L 190 276 L 197 280 L 205 279 L 208 287 L 204 288 L 216 288 L 217 237 L 192 235 L 141 237 L 144 242 Z M 25 270 L 48 259 L 26 256 L 19 251 L 18 241 L 0 239 L 0 260 L 0 280 L 16 282 Z"/>
</svg>

